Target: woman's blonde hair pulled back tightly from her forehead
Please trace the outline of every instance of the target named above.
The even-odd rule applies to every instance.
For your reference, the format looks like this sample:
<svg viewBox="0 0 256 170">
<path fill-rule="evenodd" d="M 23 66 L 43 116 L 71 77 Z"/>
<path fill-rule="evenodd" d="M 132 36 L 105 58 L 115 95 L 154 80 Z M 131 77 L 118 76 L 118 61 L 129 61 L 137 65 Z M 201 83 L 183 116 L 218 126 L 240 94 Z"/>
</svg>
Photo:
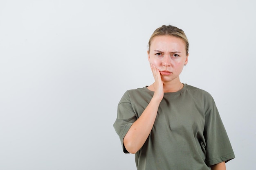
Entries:
<svg viewBox="0 0 256 170">
<path fill-rule="evenodd" d="M 177 38 L 180 38 L 184 41 L 186 46 L 186 54 L 189 54 L 189 41 L 184 33 L 184 31 L 180 28 L 177 28 L 176 26 L 172 25 L 163 25 L 159 28 L 157 28 L 154 33 L 151 35 L 149 41 L 148 41 L 148 51 L 150 50 L 150 44 L 154 37 L 160 36 L 160 35 L 170 35 Z"/>
</svg>

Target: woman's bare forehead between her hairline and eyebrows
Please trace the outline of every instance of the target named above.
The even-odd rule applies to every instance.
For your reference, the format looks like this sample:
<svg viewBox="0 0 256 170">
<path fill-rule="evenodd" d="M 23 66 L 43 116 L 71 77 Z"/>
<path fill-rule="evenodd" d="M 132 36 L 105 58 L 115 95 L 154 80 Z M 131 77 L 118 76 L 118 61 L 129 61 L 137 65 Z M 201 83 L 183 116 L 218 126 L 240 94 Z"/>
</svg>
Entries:
<svg viewBox="0 0 256 170">
<path fill-rule="evenodd" d="M 150 50 L 153 48 L 154 50 L 186 51 L 184 40 L 170 35 L 160 35 L 154 37 L 150 44 Z"/>
</svg>

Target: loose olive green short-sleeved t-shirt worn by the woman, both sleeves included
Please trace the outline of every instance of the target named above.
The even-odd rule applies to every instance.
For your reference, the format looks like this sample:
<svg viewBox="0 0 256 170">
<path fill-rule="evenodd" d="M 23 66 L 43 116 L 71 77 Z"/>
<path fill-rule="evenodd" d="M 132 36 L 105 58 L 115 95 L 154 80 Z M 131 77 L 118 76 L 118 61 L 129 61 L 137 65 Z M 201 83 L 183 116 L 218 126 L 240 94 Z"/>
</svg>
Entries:
<svg viewBox="0 0 256 170">
<path fill-rule="evenodd" d="M 123 139 L 145 110 L 154 92 L 147 87 L 125 92 L 118 104 L 114 128 Z M 164 93 L 148 139 L 135 154 L 138 170 L 210 170 L 235 157 L 211 95 L 184 84 Z"/>
</svg>

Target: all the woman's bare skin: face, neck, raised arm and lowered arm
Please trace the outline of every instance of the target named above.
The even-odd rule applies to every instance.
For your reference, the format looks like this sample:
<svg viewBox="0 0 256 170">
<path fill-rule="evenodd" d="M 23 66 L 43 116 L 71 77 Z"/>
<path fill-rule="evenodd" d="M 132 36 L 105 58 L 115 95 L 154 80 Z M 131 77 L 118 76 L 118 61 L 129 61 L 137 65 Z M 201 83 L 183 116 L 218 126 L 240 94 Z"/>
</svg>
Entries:
<svg viewBox="0 0 256 170">
<path fill-rule="evenodd" d="M 136 153 L 146 142 L 164 93 L 177 92 L 182 89 L 180 73 L 184 64 L 188 63 L 188 57 L 189 54 L 186 54 L 186 46 L 182 39 L 169 35 L 156 36 L 152 39 L 148 50 L 148 61 L 155 82 L 148 86 L 148 89 L 153 91 L 154 95 L 124 137 L 124 146 L 129 153 Z M 221 167 L 223 167 L 222 163 L 218 163 L 211 168 L 224 170 Z"/>
</svg>

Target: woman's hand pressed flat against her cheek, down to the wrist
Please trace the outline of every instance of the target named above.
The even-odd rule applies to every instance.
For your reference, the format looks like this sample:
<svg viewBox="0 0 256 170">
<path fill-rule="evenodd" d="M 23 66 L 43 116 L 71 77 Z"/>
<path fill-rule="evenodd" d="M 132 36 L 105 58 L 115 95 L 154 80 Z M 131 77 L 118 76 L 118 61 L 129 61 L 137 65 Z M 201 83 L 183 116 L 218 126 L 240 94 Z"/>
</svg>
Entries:
<svg viewBox="0 0 256 170">
<path fill-rule="evenodd" d="M 155 82 L 153 83 L 153 86 L 155 89 L 153 98 L 156 98 L 157 100 L 159 100 L 161 102 L 161 100 L 164 97 L 164 85 L 162 82 L 161 74 L 160 74 L 159 70 L 155 67 L 155 65 L 150 63 L 150 67 L 151 67 L 153 76 L 155 78 Z"/>
</svg>

